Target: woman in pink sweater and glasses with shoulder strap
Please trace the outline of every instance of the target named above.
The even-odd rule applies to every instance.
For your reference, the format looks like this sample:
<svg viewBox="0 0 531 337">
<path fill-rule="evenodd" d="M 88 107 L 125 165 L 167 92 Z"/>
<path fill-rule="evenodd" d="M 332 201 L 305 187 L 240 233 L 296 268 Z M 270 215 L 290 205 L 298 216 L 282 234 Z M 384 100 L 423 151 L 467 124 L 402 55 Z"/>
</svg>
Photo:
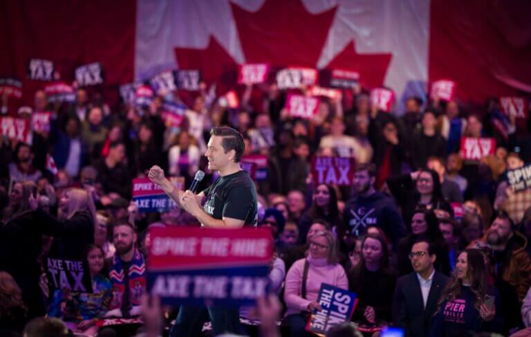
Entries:
<svg viewBox="0 0 531 337">
<path fill-rule="evenodd" d="M 322 310 L 317 303 L 321 284 L 348 289 L 343 267 L 337 263 L 337 242 L 330 230 L 319 231 L 310 237 L 306 258 L 295 262 L 286 275 L 284 300 L 288 311 L 285 321 L 290 336 L 313 336 L 304 327 L 313 309 Z"/>
</svg>

